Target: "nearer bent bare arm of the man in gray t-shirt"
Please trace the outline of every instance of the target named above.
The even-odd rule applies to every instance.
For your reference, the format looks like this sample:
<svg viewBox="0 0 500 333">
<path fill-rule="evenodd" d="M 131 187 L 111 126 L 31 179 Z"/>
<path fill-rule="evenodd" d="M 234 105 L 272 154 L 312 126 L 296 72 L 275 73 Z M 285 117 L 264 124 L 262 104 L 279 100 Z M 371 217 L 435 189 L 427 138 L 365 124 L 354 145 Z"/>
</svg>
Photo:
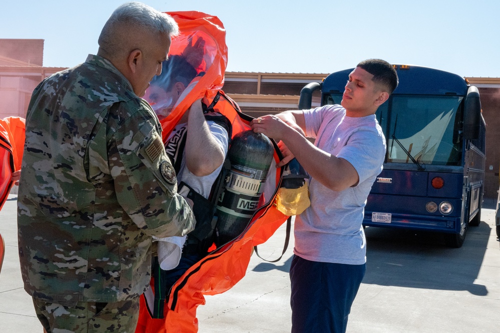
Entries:
<svg viewBox="0 0 500 333">
<path fill-rule="evenodd" d="M 254 132 L 281 140 L 309 175 L 327 188 L 333 191 L 343 191 L 358 183 L 358 173 L 349 162 L 315 147 L 304 137 L 303 132 L 297 130 L 297 127 L 302 131 L 305 130 L 302 111 L 286 111 L 276 116 L 260 118 L 260 123 L 258 120 L 251 122 Z M 287 123 L 283 121 L 283 118 Z M 292 121 L 293 123 L 290 124 L 289 122 Z"/>
</svg>

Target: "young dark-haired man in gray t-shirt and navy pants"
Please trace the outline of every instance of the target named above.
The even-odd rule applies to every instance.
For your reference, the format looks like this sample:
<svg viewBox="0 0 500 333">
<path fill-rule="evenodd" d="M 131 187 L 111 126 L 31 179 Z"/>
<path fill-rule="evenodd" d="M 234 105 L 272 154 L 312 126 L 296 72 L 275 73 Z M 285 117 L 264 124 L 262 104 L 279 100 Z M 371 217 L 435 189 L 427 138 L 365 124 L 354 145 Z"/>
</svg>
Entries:
<svg viewBox="0 0 500 333">
<path fill-rule="evenodd" d="M 295 219 L 290 267 L 292 332 L 345 332 L 366 270 L 366 198 L 382 171 L 385 138 L 375 118 L 397 87 L 387 62 L 370 59 L 349 74 L 341 106 L 286 111 L 252 121 L 311 176 L 311 205 Z M 314 144 L 305 137 L 315 138 Z"/>
</svg>

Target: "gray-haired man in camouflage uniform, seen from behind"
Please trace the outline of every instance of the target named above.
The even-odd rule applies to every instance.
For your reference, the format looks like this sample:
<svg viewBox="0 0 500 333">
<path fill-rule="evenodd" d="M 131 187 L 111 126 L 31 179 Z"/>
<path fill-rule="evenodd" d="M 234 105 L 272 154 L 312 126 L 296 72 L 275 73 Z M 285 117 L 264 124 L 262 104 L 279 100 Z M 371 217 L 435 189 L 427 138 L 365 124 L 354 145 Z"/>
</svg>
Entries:
<svg viewBox="0 0 500 333">
<path fill-rule="evenodd" d="M 97 56 L 33 93 L 19 256 L 47 332 L 133 332 L 151 278 L 152 236 L 194 228 L 158 118 L 140 98 L 177 34 L 168 15 L 122 5 L 103 28 Z"/>
</svg>

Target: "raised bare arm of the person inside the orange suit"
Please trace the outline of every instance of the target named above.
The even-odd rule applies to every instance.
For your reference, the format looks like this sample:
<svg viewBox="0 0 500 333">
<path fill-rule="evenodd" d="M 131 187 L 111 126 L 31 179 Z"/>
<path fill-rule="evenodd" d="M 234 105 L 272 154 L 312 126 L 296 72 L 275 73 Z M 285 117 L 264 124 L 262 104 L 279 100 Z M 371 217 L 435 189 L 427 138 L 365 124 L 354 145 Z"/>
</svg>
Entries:
<svg viewBox="0 0 500 333">
<path fill-rule="evenodd" d="M 189 108 L 184 154 L 186 166 L 195 176 L 209 175 L 224 162 L 224 151 L 210 132 L 200 100 Z"/>
</svg>

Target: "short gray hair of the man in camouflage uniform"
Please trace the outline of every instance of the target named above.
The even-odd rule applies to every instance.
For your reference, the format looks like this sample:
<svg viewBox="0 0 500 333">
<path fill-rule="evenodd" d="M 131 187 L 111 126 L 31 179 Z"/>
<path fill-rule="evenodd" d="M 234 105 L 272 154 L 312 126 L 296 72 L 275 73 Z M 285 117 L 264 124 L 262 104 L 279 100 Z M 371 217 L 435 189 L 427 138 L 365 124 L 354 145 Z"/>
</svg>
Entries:
<svg viewBox="0 0 500 333">
<path fill-rule="evenodd" d="M 152 34 L 170 37 L 179 35 L 179 26 L 170 15 L 139 2 L 129 2 L 111 14 L 99 36 L 99 46 L 107 53 L 118 51 L 120 47 L 117 44 L 121 41 L 117 41 L 117 36 L 123 27 L 142 28 Z"/>
</svg>

